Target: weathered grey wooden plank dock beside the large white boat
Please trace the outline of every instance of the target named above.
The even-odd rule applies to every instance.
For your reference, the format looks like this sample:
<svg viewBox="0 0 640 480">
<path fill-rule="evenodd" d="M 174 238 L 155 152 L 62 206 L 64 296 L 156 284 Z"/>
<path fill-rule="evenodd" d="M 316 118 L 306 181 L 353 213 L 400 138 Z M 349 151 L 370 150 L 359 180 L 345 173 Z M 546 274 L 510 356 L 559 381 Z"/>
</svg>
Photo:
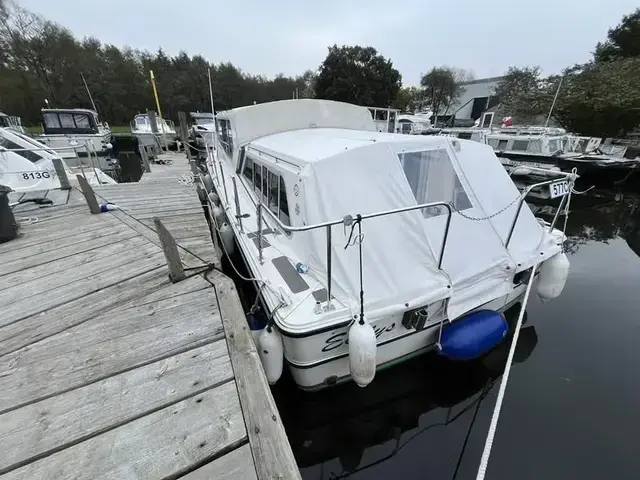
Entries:
<svg viewBox="0 0 640 480">
<path fill-rule="evenodd" d="M 200 268 L 218 259 L 196 187 L 178 181 L 185 157 L 170 155 L 139 183 L 94 188 L 123 210 L 90 213 L 78 187 L 14 209 L 1 479 L 300 478 L 233 282 Z M 178 245 L 176 283 L 154 217 Z"/>
</svg>

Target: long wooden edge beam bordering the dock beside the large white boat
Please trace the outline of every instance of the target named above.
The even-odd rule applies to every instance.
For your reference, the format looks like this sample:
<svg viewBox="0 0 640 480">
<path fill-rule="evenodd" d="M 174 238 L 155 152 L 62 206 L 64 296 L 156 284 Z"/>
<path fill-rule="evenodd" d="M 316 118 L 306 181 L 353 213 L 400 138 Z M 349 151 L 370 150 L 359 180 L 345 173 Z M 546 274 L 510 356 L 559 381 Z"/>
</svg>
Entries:
<svg viewBox="0 0 640 480">
<path fill-rule="evenodd" d="M 209 278 L 218 296 L 258 478 L 301 479 L 233 281 L 215 270 Z"/>
</svg>

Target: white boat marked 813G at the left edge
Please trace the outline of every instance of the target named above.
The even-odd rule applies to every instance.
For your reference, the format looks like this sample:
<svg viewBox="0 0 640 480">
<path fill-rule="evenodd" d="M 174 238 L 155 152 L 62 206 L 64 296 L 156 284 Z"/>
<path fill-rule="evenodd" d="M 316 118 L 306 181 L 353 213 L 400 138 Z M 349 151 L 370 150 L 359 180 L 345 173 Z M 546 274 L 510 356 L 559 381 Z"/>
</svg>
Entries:
<svg viewBox="0 0 640 480">
<path fill-rule="evenodd" d="M 46 145 L 15 130 L 0 128 L 0 184 L 15 192 L 46 191 L 62 187 L 60 175 L 73 184 L 78 174 L 90 185 L 117 183 L 96 167 L 72 169 Z"/>
</svg>

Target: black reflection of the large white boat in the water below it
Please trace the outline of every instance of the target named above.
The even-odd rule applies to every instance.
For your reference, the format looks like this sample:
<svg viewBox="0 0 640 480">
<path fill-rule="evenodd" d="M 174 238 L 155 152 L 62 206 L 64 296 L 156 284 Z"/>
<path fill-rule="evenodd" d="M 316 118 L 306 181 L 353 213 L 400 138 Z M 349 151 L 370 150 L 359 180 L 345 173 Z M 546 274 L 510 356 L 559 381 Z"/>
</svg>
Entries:
<svg viewBox="0 0 640 480">
<path fill-rule="evenodd" d="M 519 311 L 520 304 L 516 304 L 505 312 L 510 331 Z M 465 432 L 470 430 L 474 412 L 492 387 L 498 387 L 510 343 L 507 337 L 474 362 L 423 355 L 378 372 L 376 381 L 365 389 L 348 383 L 309 394 L 289 378 L 280 382 L 273 393 L 303 477 L 333 480 L 362 472 L 358 478 L 374 478 L 376 466 L 393 461 L 405 446 L 420 442 L 427 431 L 447 428 L 462 417 L 458 424 L 462 423 Z M 514 363 L 527 360 L 537 343 L 535 327 L 523 326 Z M 427 412 L 435 415 L 421 421 Z M 465 445 L 466 441 L 460 445 L 458 460 Z M 427 457 L 438 455 L 437 449 L 424 448 L 423 452 Z M 425 462 L 423 458 L 418 461 Z M 454 473 L 456 459 L 452 462 Z"/>
</svg>

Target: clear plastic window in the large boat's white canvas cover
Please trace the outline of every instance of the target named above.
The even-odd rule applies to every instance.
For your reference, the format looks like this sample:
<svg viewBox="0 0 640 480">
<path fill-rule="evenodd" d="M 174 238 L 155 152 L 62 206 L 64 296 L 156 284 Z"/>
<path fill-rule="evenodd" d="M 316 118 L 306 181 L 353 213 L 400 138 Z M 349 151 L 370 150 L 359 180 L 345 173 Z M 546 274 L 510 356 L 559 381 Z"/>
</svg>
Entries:
<svg viewBox="0 0 640 480">
<path fill-rule="evenodd" d="M 416 201 L 453 203 L 456 210 L 471 208 L 471 201 L 460 183 L 449 154 L 444 149 L 408 152 L 398 155 Z M 425 218 L 445 215 L 444 206 L 425 208 Z"/>
</svg>

